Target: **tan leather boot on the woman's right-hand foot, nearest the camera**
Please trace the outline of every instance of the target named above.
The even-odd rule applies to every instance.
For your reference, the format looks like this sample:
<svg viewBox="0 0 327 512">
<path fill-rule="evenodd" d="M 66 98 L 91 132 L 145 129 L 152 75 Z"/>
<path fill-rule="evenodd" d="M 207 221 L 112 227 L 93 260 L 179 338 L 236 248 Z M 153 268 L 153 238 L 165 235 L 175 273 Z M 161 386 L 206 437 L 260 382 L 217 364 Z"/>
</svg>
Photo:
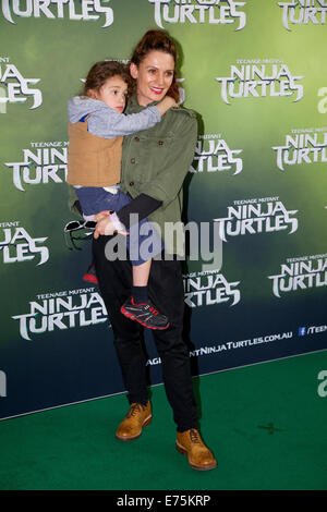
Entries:
<svg viewBox="0 0 327 512">
<path fill-rule="evenodd" d="M 179 452 L 187 455 L 189 464 L 193 470 L 208 471 L 217 467 L 216 459 L 203 442 L 196 428 L 177 432 L 175 446 Z"/>
</svg>

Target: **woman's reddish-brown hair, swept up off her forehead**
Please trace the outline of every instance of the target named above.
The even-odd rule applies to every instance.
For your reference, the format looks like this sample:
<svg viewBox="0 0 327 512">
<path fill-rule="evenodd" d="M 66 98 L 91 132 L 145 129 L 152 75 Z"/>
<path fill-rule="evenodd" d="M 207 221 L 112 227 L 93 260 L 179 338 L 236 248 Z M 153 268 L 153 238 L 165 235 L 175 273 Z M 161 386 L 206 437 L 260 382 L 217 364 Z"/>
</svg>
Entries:
<svg viewBox="0 0 327 512">
<path fill-rule="evenodd" d="M 138 66 L 150 51 L 169 53 L 173 58 L 174 64 L 177 63 L 175 44 L 168 37 L 165 31 L 148 31 L 145 33 L 133 51 L 131 62 Z M 175 101 L 180 100 L 175 71 L 173 72 L 172 83 L 167 95 L 171 96 Z"/>
</svg>

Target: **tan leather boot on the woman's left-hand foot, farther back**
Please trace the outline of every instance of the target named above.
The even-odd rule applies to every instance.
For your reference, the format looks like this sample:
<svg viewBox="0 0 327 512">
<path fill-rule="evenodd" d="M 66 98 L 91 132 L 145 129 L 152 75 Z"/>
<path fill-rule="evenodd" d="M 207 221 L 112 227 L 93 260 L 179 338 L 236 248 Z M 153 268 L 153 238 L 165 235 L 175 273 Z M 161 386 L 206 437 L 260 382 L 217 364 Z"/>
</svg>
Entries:
<svg viewBox="0 0 327 512">
<path fill-rule="evenodd" d="M 142 434 L 142 428 L 152 423 L 152 405 L 147 402 L 146 405 L 142 403 L 132 403 L 131 409 L 119 425 L 116 437 L 121 441 L 132 441 Z"/>
</svg>

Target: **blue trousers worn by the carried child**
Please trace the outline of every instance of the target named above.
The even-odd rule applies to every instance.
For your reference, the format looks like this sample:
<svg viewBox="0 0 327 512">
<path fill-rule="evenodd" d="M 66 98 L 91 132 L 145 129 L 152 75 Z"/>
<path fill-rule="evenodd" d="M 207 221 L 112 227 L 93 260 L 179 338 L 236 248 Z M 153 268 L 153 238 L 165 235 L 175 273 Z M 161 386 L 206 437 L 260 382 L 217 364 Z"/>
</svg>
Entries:
<svg viewBox="0 0 327 512">
<path fill-rule="evenodd" d="M 132 200 L 130 195 L 124 194 L 119 188 L 117 194 L 111 194 L 98 186 L 83 186 L 75 188 L 75 192 L 81 203 L 83 214 L 86 216 L 96 215 L 104 210 L 111 210 L 119 214 L 119 210 Z M 147 231 L 148 234 L 142 234 L 142 232 L 144 233 L 145 231 Z M 138 266 L 146 261 L 146 259 L 143 259 L 140 255 L 140 247 L 142 244 L 146 243 L 149 237 L 152 237 L 152 246 L 149 246 L 149 248 L 152 248 L 152 257 L 155 257 L 164 249 L 161 237 L 147 218 L 131 225 L 129 233 L 130 234 L 126 236 L 128 251 L 130 255 L 137 255 L 136 258 L 131 259 L 133 266 Z"/>
</svg>

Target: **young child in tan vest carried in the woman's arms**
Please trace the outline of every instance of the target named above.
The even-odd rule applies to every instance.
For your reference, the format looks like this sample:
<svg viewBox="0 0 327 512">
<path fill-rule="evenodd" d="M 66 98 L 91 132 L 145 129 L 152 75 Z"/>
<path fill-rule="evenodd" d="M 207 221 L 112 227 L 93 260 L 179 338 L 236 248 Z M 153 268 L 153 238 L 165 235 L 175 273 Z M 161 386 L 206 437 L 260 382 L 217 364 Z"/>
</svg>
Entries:
<svg viewBox="0 0 327 512">
<path fill-rule="evenodd" d="M 107 210 L 113 211 L 111 223 L 123 234 L 126 234 L 124 227 L 114 212 L 132 200 L 119 187 L 123 135 L 154 126 L 167 110 L 177 107 L 175 101 L 167 96 L 157 106 L 140 113 L 123 114 L 130 83 L 125 66 L 119 62 L 97 62 L 87 74 L 83 95 L 69 100 L 66 181 L 75 187 L 85 220 L 98 221 Z M 144 222 L 148 220 L 142 220 L 137 229 Z M 144 235 L 140 235 L 138 244 L 143 240 Z M 130 248 L 129 235 L 126 244 Z M 123 304 L 121 313 L 150 329 L 166 329 L 168 318 L 147 297 L 150 264 L 150 259 L 145 261 L 141 257 L 132 260 L 132 296 Z"/>
</svg>

